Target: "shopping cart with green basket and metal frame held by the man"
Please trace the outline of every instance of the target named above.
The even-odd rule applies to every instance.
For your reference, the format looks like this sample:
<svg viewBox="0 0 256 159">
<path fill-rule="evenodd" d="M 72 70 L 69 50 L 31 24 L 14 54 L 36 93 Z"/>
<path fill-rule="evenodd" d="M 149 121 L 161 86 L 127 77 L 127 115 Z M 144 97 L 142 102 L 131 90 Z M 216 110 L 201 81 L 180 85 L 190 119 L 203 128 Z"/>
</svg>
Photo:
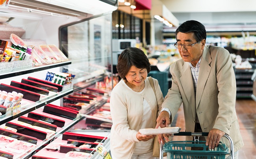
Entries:
<svg viewBox="0 0 256 159">
<path fill-rule="evenodd" d="M 169 141 L 163 145 L 160 144 L 160 159 L 163 159 L 163 153 L 167 153 L 168 159 L 225 159 L 226 155 L 230 155 L 234 159 L 234 144 L 228 135 L 223 137 L 227 138 L 230 143 L 230 150 L 220 141 L 219 146 L 215 149 L 209 149 L 205 145 L 206 141 L 199 141 L 200 136 L 208 136 L 208 132 L 191 133 L 179 132 L 173 134 L 174 136 L 193 136 L 194 141 Z M 201 148 L 202 150 L 187 150 L 187 148 Z"/>
</svg>

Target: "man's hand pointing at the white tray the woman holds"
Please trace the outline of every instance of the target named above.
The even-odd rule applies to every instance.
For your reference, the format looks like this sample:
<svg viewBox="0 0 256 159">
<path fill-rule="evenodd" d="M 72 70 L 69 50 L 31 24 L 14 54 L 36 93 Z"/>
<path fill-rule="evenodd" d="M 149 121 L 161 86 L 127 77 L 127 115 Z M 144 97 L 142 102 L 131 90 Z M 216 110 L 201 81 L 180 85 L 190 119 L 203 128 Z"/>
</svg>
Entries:
<svg viewBox="0 0 256 159">
<path fill-rule="evenodd" d="M 162 111 L 158 116 L 158 118 L 156 119 L 156 128 L 158 128 L 159 126 L 161 128 L 168 127 L 169 125 L 170 125 L 170 114 L 167 111 Z M 169 135 L 167 134 L 159 134 L 158 142 L 159 143 L 161 141 L 162 143 L 165 143 L 165 141 L 168 142 L 169 141 L 168 137 Z"/>
</svg>

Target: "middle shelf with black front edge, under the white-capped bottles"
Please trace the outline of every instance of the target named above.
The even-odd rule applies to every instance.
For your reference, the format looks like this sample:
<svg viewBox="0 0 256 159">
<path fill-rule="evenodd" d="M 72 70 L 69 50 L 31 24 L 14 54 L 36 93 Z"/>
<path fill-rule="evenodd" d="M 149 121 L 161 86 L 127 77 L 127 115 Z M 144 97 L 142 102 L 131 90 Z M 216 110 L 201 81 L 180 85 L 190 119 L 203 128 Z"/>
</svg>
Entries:
<svg viewBox="0 0 256 159">
<path fill-rule="evenodd" d="M 11 121 L 13 119 L 16 119 L 17 117 L 20 117 L 20 116 L 23 116 L 35 109 L 38 109 L 40 107 L 43 107 L 44 105 L 46 104 L 49 104 L 51 103 L 52 101 L 55 101 L 57 99 L 60 99 L 70 93 L 73 92 L 73 89 L 67 89 L 67 90 L 64 90 L 64 91 L 61 91 L 59 92 L 58 94 L 55 94 L 55 95 L 52 95 L 50 97 L 46 97 L 46 98 L 43 98 L 37 102 L 34 102 L 28 106 L 26 106 L 25 108 L 23 108 L 22 112 L 20 112 L 19 114 L 15 115 L 15 116 L 6 116 L 6 115 L 2 115 L 0 116 L 0 125 L 8 122 L 8 121 Z"/>
</svg>

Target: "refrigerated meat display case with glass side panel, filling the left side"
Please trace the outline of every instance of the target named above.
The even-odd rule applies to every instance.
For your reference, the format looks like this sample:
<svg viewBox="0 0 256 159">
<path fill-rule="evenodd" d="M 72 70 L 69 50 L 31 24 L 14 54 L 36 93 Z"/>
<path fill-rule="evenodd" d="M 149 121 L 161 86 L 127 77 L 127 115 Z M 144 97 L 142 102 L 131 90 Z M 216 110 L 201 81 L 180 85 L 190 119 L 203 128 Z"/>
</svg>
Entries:
<svg viewBox="0 0 256 159">
<path fill-rule="evenodd" d="M 103 137 L 100 138 L 100 143 L 109 151 L 111 120 L 93 116 L 93 114 L 100 112 L 102 106 L 108 103 L 114 83 L 111 73 L 111 14 L 116 9 L 117 0 L 93 0 L 93 2 L 12 0 L 9 6 L 0 8 L 0 18 L 4 19 L 0 22 L 2 24 L 2 27 L 0 25 L 1 40 L 6 40 L 11 45 L 9 37 L 13 33 L 12 30 L 15 30 L 15 34 L 19 34 L 19 37 L 28 45 L 55 45 L 68 58 L 68 60 L 64 58 L 63 61 L 56 61 L 56 63 L 43 63 L 26 68 L 1 69 L 0 83 L 2 86 L 0 90 L 6 88 L 5 90 L 12 92 L 13 87 L 19 88 L 22 85 L 22 89 L 15 88 L 15 90 L 28 92 L 26 90 L 28 86 L 25 87 L 21 80 L 24 79 L 25 82 L 37 79 L 39 81 L 36 82 L 40 83 L 45 81 L 48 72 L 68 72 L 75 75 L 70 87 L 60 85 L 58 91 L 45 96 L 39 94 L 39 99 L 34 101 L 27 98 L 26 95 L 22 99 L 21 103 L 24 105 L 20 106 L 19 114 L 2 113 L 3 115 L 0 116 L 1 135 L 17 136 L 15 139 L 20 142 L 30 140 L 34 144 L 15 157 L 8 153 L 5 154 L 6 156 L 9 158 L 44 158 L 39 154 L 46 150 L 45 146 L 50 146 L 49 143 L 54 143 L 62 139 L 63 134 L 69 133 L 87 136 L 101 133 L 102 135 L 99 136 Z M 106 77 L 108 82 L 106 82 Z M 11 81 L 14 81 L 15 86 L 11 86 Z M 100 94 L 100 90 L 105 94 Z M 77 96 L 82 92 L 87 94 L 91 92 L 90 94 L 95 95 L 96 99 L 89 102 L 88 107 L 81 107 L 78 110 L 79 105 L 72 102 L 70 105 L 67 104 L 67 98 L 80 99 Z M 59 111 L 55 111 L 56 109 Z M 5 107 L 0 107 L 0 112 L 5 111 Z M 27 118 L 35 120 L 35 123 L 31 124 L 32 127 L 20 125 L 21 121 L 28 121 Z M 43 124 L 43 122 L 47 122 L 47 124 Z M 94 125 L 93 122 L 95 122 Z M 99 122 L 105 123 L 105 125 Z M 9 130 L 5 129 L 6 124 Z M 37 131 L 39 128 L 35 127 L 37 124 L 43 124 L 48 129 L 56 128 L 56 130 L 54 129 L 53 133 L 50 131 L 39 132 Z M 49 126 L 50 124 L 58 126 Z M 100 126 L 101 124 L 103 126 Z M 12 131 L 15 128 L 18 129 L 17 132 Z M 29 135 L 32 134 L 33 136 L 30 137 Z M 0 147 L 0 153 L 3 154 L 5 149 L 5 147 Z M 45 155 L 51 154 L 50 150 L 46 150 L 46 152 Z M 52 157 L 50 156 L 50 158 Z M 95 151 L 91 152 L 90 157 L 102 158 Z"/>
</svg>

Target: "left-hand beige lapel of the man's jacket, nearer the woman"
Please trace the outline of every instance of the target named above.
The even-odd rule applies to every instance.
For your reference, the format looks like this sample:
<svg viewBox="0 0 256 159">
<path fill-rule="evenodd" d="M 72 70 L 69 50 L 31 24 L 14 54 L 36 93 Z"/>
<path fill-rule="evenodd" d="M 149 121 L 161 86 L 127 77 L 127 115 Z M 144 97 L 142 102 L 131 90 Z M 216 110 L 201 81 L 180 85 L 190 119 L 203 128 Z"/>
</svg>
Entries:
<svg viewBox="0 0 256 159">
<path fill-rule="evenodd" d="M 188 62 L 185 62 L 181 69 L 181 77 L 180 82 L 182 84 L 182 88 L 186 94 L 187 101 L 191 106 L 193 116 L 196 114 L 196 105 L 195 105 L 195 91 L 194 84 L 191 74 L 191 69 Z"/>
</svg>

